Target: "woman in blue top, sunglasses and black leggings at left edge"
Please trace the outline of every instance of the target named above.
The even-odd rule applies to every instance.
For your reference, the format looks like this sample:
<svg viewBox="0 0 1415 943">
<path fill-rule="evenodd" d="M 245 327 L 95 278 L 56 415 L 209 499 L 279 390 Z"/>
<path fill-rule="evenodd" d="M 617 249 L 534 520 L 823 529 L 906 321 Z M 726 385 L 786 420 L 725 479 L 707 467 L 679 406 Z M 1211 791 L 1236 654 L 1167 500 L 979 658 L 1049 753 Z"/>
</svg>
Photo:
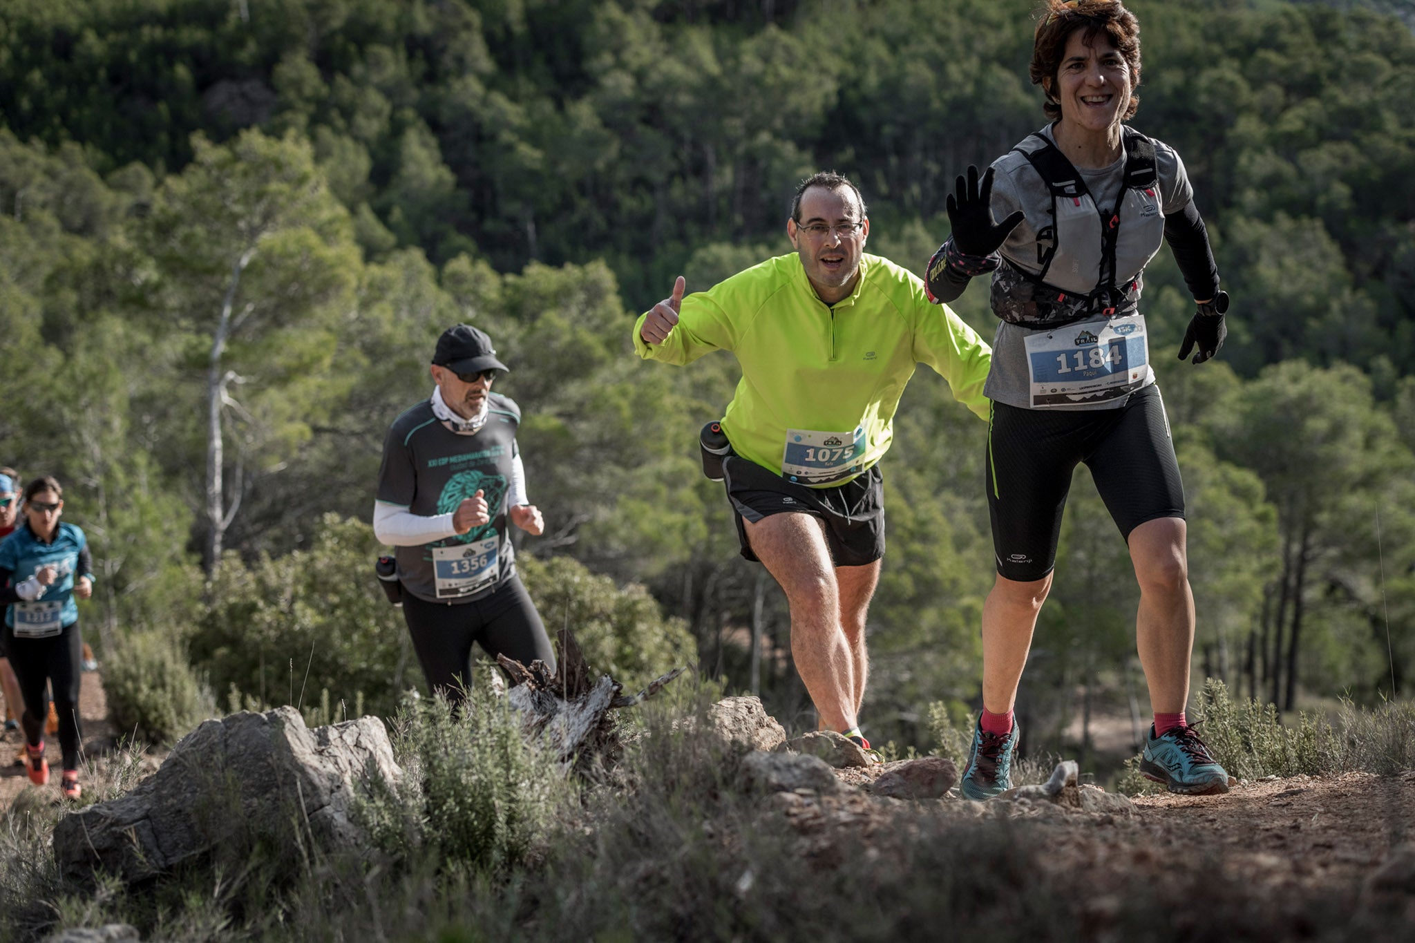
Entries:
<svg viewBox="0 0 1415 943">
<path fill-rule="evenodd" d="M 48 475 L 24 489 L 24 523 L 0 543 L 0 602 L 4 612 L 4 646 L 24 698 L 25 772 L 30 782 L 50 782 L 44 758 L 44 722 L 50 715 L 50 691 L 59 718 L 59 754 L 64 772 L 59 790 L 78 799 L 79 751 L 79 663 L 83 639 L 74 599 L 93 594 L 93 558 L 83 532 L 64 513 L 64 489 Z"/>
</svg>

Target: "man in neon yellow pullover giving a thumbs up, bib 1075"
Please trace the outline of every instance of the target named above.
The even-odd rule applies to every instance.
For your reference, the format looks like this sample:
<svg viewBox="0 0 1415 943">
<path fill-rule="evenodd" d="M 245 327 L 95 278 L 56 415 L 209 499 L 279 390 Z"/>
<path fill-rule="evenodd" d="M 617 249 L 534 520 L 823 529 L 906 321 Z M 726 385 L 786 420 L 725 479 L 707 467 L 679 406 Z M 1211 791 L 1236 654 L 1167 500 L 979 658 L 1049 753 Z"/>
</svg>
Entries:
<svg viewBox="0 0 1415 943">
<path fill-rule="evenodd" d="M 928 301 L 916 276 L 865 254 L 869 232 L 859 189 L 815 174 L 797 188 L 787 221 L 795 254 L 688 297 L 679 276 L 634 327 L 645 359 L 682 365 L 720 349 L 741 365 L 722 420 L 741 553 L 787 594 L 791 655 L 821 725 L 866 748 L 865 615 L 884 553 L 877 462 L 916 363 L 986 418 L 992 355 L 947 305 Z"/>
</svg>

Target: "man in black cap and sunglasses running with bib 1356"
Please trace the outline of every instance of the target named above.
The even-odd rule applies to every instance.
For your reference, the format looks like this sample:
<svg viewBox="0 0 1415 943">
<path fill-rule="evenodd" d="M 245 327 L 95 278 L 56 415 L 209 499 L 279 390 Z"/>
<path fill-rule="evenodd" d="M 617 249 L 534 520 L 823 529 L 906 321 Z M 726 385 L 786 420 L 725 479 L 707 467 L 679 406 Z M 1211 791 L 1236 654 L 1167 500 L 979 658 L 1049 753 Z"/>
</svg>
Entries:
<svg viewBox="0 0 1415 943">
<path fill-rule="evenodd" d="M 458 324 L 437 339 L 429 399 L 393 420 L 378 472 L 374 533 L 396 547 L 403 618 L 423 677 L 461 700 L 471 643 L 522 664 L 555 652 L 516 575 L 507 525 L 545 529 L 526 500 L 521 409 L 491 392 L 507 372 L 491 338 Z"/>
</svg>

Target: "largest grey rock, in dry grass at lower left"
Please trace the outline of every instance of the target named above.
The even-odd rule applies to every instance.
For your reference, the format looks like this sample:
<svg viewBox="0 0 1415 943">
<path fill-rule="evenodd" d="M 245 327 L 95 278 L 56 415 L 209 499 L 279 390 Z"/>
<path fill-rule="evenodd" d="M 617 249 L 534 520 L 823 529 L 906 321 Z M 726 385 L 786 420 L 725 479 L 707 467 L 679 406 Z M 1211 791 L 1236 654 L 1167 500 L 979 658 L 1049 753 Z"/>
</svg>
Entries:
<svg viewBox="0 0 1415 943">
<path fill-rule="evenodd" d="M 69 878 L 95 868 L 127 882 L 163 874 L 241 837 L 291 848 L 357 845 L 354 783 L 402 778 L 376 717 L 308 730 L 293 707 L 242 711 L 184 737 L 133 792 L 65 816 L 54 857 Z"/>
</svg>

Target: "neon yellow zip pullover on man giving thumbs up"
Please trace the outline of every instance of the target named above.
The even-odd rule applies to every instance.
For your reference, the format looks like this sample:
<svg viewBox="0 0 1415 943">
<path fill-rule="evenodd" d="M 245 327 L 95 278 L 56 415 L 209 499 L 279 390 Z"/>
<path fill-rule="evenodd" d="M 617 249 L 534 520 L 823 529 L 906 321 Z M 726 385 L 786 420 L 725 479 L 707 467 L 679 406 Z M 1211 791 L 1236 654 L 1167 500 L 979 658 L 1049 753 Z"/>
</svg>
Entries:
<svg viewBox="0 0 1415 943">
<path fill-rule="evenodd" d="M 880 256 L 862 256 L 855 291 L 833 307 L 792 253 L 683 297 L 662 344 L 640 336 L 644 317 L 634 324 L 644 359 L 683 365 L 709 351 L 736 355 L 741 382 L 723 430 L 743 458 L 791 478 L 815 457 L 804 445 L 841 447 L 824 464 L 833 469 L 821 472 L 829 481 L 802 472 L 801 484 L 839 486 L 889 451 L 916 363 L 934 368 L 954 399 L 988 418 L 982 387 L 992 349 L 947 304 L 930 304 L 918 277 Z"/>
</svg>

